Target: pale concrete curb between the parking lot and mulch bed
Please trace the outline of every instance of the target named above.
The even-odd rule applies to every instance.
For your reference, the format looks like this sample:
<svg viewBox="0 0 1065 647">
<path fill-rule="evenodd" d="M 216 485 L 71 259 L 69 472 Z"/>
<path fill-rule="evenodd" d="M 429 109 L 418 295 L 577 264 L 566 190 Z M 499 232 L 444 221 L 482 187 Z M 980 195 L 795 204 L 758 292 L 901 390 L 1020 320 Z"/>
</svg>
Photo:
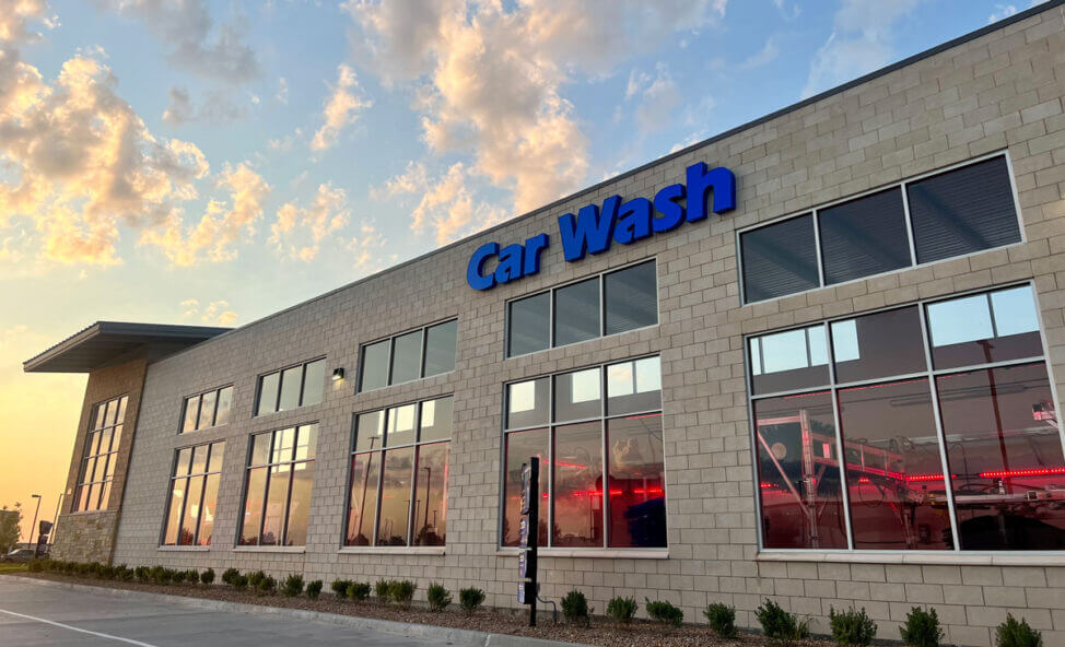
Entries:
<svg viewBox="0 0 1065 647">
<path fill-rule="evenodd" d="M 265 604 L 245 604 L 242 602 L 229 602 L 225 600 L 209 600 L 187 596 L 168 596 L 166 593 L 150 593 L 147 591 L 133 591 L 129 589 L 115 589 L 105 586 L 92 586 L 85 584 L 73 584 L 68 581 L 55 581 L 50 579 L 37 579 L 35 577 L 19 577 L 19 581 L 34 584 L 37 586 L 50 586 L 71 591 L 85 591 L 94 595 L 105 595 L 113 598 L 144 600 L 160 604 L 184 604 L 195 609 L 207 611 L 232 611 L 236 613 L 249 613 L 256 615 L 273 615 L 290 617 L 293 620 L 309 620 L 314 622 L 325 622 L 329 624 L 351 627 L 353 630 L 368 630 L 383 634 L 403 636 L 407 638 L 431 639 L 438 644 L 458 645 L 461 647 L 587 647 L 577 643 L 560 643 L 558 640 L 545 640 L 542 638 L 530 638 L 528 636 L 512 636 L 508 634 L 488 634 L 470 630 L 457 630 L 453 627 L 442 627 L 430 624 L 408 624 L 391 620 L 377 620 L 373 617 L 360 617 L 358 615 L 343 615 L 340 613 L 326 613 L 324 611 L 307 611 L 304 609 L 285 609 L 281 607 L 268 607 Z"/>
</svg>

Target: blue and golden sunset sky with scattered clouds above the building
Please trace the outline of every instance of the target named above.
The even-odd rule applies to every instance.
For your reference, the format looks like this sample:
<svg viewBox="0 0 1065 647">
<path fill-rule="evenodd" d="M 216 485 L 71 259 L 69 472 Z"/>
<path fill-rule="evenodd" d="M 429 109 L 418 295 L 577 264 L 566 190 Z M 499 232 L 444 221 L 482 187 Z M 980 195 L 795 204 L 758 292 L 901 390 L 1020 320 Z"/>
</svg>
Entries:
<svg viewBox="0 0 1065 647">
<path fill-rule="evenodd" d="M 96 320 L 250 322 L 1029 5 L 0 0 L 0 506 Z"/>
</svg>

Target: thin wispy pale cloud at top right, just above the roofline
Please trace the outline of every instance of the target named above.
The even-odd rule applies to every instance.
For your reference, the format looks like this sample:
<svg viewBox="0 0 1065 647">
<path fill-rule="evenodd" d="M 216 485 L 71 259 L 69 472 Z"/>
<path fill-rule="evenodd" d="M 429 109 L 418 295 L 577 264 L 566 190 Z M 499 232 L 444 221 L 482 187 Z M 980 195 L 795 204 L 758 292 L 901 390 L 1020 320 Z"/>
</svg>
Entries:
<svg viewBox="0 0 1065 647">
<path fill-rule="evenodd" d="M 920 0 L 843 0 L 833 32 L 814 56 L 803 97 L 881 68 L 894 57 L 892 28 Z"/>
</svg>

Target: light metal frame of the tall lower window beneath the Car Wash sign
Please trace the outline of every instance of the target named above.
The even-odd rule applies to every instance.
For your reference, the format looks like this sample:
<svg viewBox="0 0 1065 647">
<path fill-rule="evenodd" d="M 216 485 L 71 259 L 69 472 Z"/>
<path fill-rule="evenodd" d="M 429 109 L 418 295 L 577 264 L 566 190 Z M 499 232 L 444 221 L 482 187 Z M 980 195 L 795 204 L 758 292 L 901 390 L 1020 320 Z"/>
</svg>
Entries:
<svg viewBox="0 0 1065 647">
<path fill-rule="evenodd" d="M 620 334 L 620 333 L 619 333 Z M 622 413 L 610 414 L 608 409 L 608 377 L 607 372 L 611 366 L 617 366 L 620 364 L 629 364 L 639 362 L 641 360 L 658 358 L 658 392 L 659 392 L 659 407 L 658 409 L 648 409 L 641 411 L 629 411 Z M 573 373 L 581 373 L 584 370 L 598 370 L 599 377 L 599 415 L 597 416 L 586 416 L 573 420 L 554 420 L 555 407 L 554 407 L 554 391 L 555 391 L 555 378 L 571 375 Z M 502 392 L 502 415 L 500 416 L 500 471 L 499 471 L 499 491 L 498 496 L 498 515 L 499 520 L 495 526 L 496 537 L 495 537 L 495 548 L 496 551 L 507 552 L 507 551 L 518 551 L 522 550 L 518 546 L 506 545 L 503 543 L 503 524 L 506 520 L 506 448 L 507 448 L 507 436 L 510 434 L 530 432 L 536 430 L 542 430 L 547 432 L 547 464 L 540 466 L 540 487 L 548 495 L 547 504 L 547 515 L 548 515 L 548 541 L 546 545 L 541 545 L 540 550 L 546 551 L 548 554 L 554 553 L 555 555 L 562 554 L 574 554 L 580 555 L 602 555 L 602 554 L 618 554 L 619 556 L 644 556 L 654 555 L 663 556 L 669 553 L 669 540 L 668 534 L 666 539 L 666 545 L 664 546 L 611 546 L 610 545 L 610 515 L 609 515 L 609 503 L 602 505 L 602 509 L 599 511 L 602 517 L 602 544 L 596 546 L 555 546 L 553 545 L 553 520 L 554 520 L 554 479 L 551 477 L 551 463 L 553 461 L 555 436 L 554 432 L 560 427 L 569 427 L 573 425 L 586 424 L 586 423 L 599 423 L 599 451 L 600 451 L 600 468 L 601 475 L 604 479 L 604 489 L 607 490 L 607 483 L 609 482 L 609 469 L 610 469 L 610 448 L 607 444 L 607 436 L 609 430 L 609 423 L 613 420 L 623 420 L 625 417 L 634 415 L 658 415 L 662 420 L 663 427 L 663 499 L 665 502 L 669 501 L 669 485 L 668 479 L 666 478 L 666 451 L 665 451 L 665 388 L 662 380 L 662 353 L 646 353 L 642 355 L 634 355 L 632 357 L 625 357 L 622 360 L 616 360 L 611 362 L 601 362 L 598 364 L 592 364 L 587 366 L 575 366 L 573 368 L 567 368 L 565 370 L 559 370 L 554 373 L 545 373 L 529 377 L 523 377 L 520 379 L 507 380 L 503 384 Z M 526 381 L 534 381 L 537 379 L 548 379 L 548 420 L 540 424 L 523 425 L 515 427 L 506 426 L 507 411 L 510 409 L 510 387 L 515 384 L 522 384 Z M 633 374 L 633 379 L 635 380 L 635 374 Z M 545 481 L 546 479 L 546 481 Z M 668 524 L 668 515 L 667 515 Z M 668 529 L 668 528 L 667 528 Z"/>
</svg>

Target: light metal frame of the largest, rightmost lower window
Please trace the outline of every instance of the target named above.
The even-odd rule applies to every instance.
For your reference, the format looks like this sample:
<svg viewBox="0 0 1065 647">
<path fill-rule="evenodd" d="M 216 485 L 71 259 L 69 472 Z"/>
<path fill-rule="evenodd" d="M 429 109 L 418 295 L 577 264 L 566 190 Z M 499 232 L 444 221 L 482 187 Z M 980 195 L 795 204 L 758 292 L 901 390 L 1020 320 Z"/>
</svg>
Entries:
<svg viewBox="0 0 1065 647">
<path fill-rule="evenodd" d="M 951 366 L 948 368 L 935 368 L 932 358 L 932 336 L 929 332 L 928 322 L 928 307 L 935 304 L 949 302 L 957 298 L 963 298 L 967 296 L 974 295 L 990 295 L 995 292 L 1003 292 L 1007 290 L 1028 287 L 1031 291 L 1032 299 L 1034 301 L 1035 319 L 1039 325 L 1039 338 L 1042 344 L 1042 353 L 1034 356 L 1017 357 L 1013 360 L 997 361 L 991 363 L 982 364 L 968 364 L 963 366 Z M 921 325 L 921 342 L 924 345 L 924 356 L 925 356 L 925 369 L 922 372 L 900 374 L 900 375 L 885 375 L 862 380 L 852 380 L 846 383 L 840 383 L 836 380 L 835 375 L 835 360 L 833 357 L 833 346 L 832 346 L 832 333 L 831 326 L 836 321 L 846 321 L 850 319 L 856 319 L 859 317 L 865 317 L 868 315 L 876 315 L 879 313 L 886 313 L 891 310 L 898 310 L 908 307 L 916 307 L 918 311 L 918 321 Z M 772 334 L 775 332 L 784 332 L 787 330 L 805 329 L 810 327 L 821 326 L 824 331 L 827 354 L 829 358 L 829 381 L 819 386 L 810 386 L 798 389 L 789 389 L 783 391 L 772 391 L 754 395 L 753 392 L 753 373 L 751 370 L 751 353 L 750 353 L 750 342 L 752 339 L 763 337 L 765 334 Z M 947 499 L 947 513 L 950 520 L 950 529 L 953 536 L 953 548 L 943 549 L 943 550 L 928 550 L 928 549 L 855 549 L 854 548 L 854 532 L 851 528 L 851 502 L 850 493 L 846 482 L 846 469 L 845 461 L 841 460 L 841 452 L 845 451 L 843 430 L 840 424 L 840 408 L 839 408 L 839 392 L 844 389 L 851 389 L 854 387 L 861 387 L 865 385 L 877 385 L 888 381 L 898 381 L 906 379 L 925 379 L 928 383 L 928 393 L 932 401 L 932 412 L 935 419 L 935 431 L 937 436 L 937 444 L 939 447 L 939 460 L 940 469 L 943 474 L 950 474 L 949 467 L 949 454 L 947 451 L 946 437 L 944 435 L 944 422 L 943 414 L 939 408 L 939 390 L 936 379 L 944 375 L 953 375 L 960 373 L 971 373 L 973 370 L 984 370 L 990 368 L 999 367 L 1010 367 L 1010 366 L 1022 366 L 1034 363 L 1042 363 L 1046 369 L 1046 377 L 1050 386 L 1051 397 L 1055 407 L 1055 411 L 1060 411 L 1061 399 L 1058 397 L 1057 387 L 1054 380 L 1054 366 L 1051 362 L 1051 356 L 1048 351 L 1050 348 L 1046 341 L 1045 325 L 1043 322 L 1042 311 L 1039 309 L 1039 293 L 1035 290 L 1035 284 L 1033 280 L 1027 281 L 1016 281 L 1010 283 L 1003 283 L 999 285 L 984 286 L 973 290 L 967 290 L 962 292 L 957 292 L 948 295 L 931 297 L 926 299 L 916 299 L 912 302 L 906 302 L 902 304 L 890 305 L 881 308 L 875 308 L 871 310 L 865 310 L 861 313 L 851 313 L 847 315 L 831 317 L 826 319 L 819 319 L 814 322 L 805 322 L 795 326 L 788 326 L 785 328 L 764 330 L 757 333 L 745 334 L 744 340 L 744 374 L 745 374 L 745 386 L 747 388 L 747 420 L 748 420 L 748 439 L 750 442 L 751 451 L 751 480 L 752 480 L 752 494 L 754 496 L 754 515 L 756 515 L 756 538 L 759 553 L 766 554 L 800 554 L 800 555 L 818 555 L 818 554 L 830 554 L 830 555 L 847 555 L 847 554 L 864 554 L 864 555 L 877 555 L 886 556 L 892 555 L 896 557 L 903 557 L 904 555 L 952 555 L 958 556 L 1017 556 L 1017 555 L 1040 555 L 1040 556 L 1061 556 L 1063 551 L 1051 551 L 1051 550 L 1039 550 L 1039 551 L 995 551 L 995 550 L 964 550 L 961 544 L 961 534 L 959 533 L 958 527 L 958 509 L 955 504 L 955 487 L 952 482 L 944 481 L 945 497 Z M 758 472 L 758 438 L 757 438 L 757 421 L 754 417 L 754 402 L 759 400 L 769 400 L 772 398 L 780 398 L 783 396 L 794 396 L 799 393 L 816 392 L 816 391 L 827 391 L 830 393 L 832 401 L 832 415 L 835 424 L 835 459 L 839 463 L 840 469 L 840 482 L 841 482 L 841 501 L 844 509 L 844 522 L 846 531 L 846 543 L 847 548 L 844 549 L 780 549 L 780 548 L 765 548 L 763 533 L 762 533 L 762 496 L 759 486 L 759 472 Z M 1058 421 L 1058 440 L 1062 443 L 1063 452 L 1065 452 L 1065 424 Z"/>
</svg>

